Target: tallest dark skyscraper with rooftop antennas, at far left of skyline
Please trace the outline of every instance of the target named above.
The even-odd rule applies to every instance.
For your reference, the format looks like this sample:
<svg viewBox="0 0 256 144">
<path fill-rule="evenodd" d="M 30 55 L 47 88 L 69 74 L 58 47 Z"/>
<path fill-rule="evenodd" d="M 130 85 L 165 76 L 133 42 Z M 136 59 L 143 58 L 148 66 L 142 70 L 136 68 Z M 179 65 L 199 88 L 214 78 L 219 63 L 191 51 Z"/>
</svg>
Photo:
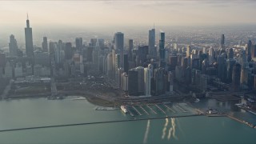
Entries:
<svg viewBox="0 0 256 144">
<path fill-rule="evenodd" d="M 34 57 L 33 36 L 32 36 L 32 28 L 30 27 L 30 20 L 28 15 L 26 19 L 25 40 L 26 40 L 26 57 L 33 58 Z"/>
</svg>

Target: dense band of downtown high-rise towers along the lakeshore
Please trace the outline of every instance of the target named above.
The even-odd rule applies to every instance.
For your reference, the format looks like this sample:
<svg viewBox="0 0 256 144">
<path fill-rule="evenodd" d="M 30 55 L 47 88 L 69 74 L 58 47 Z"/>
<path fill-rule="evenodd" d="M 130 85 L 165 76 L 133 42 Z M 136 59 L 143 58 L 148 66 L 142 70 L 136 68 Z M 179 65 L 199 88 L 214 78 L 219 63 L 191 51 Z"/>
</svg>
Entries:
<svg viewBox="0 0 256 144">
<path fill-rule="evenodd" d="M 42 47 L 35 50 L 32 28 L 26 20 L 26 53 L 18 49 L 10 35 L 10 53 L 0 53 L 0 77 L 27 78 L 86 78 L 105 74 L 115 88 L 132 96 L 172 94 L 174 83 L 206 92 L 214 86 L 223 90 L 256 90 L 256 46 L 249 41 L 243 48 L 225 46 L 221 35 L 218 49 L 174 43 L 166 49 L 165 33 L 160 32 L 156 46 L 155 29 L 149 30 L 148 46 L 134 47 L 124 34 L 117 32 L 110 43 L 91 38 L 84 45 L 82 38 L 71 42 L 49 42 L 43 37 Z"/>
</svg>

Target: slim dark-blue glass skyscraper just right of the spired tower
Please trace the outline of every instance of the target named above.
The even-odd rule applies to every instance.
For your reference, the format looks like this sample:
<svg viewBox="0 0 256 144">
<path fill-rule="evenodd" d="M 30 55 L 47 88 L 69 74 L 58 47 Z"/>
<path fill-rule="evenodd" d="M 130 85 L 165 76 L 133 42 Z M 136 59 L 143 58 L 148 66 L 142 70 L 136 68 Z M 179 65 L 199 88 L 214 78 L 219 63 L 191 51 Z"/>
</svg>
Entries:
<svg viewBox="0 0 256 144">
<path fill-rule="evenodd" d="M 166 66 L 166 58 L 165 58 L 166 50 L 165 50 L 165 33 L 160 33 L 159 39 L 159 59 L 160 59 L 160 67 Z"/>
</svg>

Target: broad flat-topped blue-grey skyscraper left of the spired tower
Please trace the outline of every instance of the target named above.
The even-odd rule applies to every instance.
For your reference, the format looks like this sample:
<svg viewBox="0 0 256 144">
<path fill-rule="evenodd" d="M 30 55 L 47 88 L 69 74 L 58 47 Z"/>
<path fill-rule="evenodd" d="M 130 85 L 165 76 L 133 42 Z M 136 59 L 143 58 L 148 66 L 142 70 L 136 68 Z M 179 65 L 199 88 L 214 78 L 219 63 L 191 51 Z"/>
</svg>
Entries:
<svg viewBox="0 0 256 144">
<path fill-rule="evenodd" d="M 124 35 L 121 32 L 114 34 L 114 50 L 117 54 L 120 54 L 120 66 L 123 67 L 123 43 Z"/>
</svg>

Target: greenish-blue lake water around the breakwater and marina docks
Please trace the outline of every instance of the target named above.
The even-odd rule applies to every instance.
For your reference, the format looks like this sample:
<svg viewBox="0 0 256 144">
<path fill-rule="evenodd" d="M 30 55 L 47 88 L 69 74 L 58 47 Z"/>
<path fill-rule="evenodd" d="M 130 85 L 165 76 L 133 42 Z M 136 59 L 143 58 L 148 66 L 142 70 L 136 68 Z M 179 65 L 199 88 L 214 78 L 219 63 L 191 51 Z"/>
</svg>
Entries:
<svg viewBox="0 0 256 144">
<path fill-rule="evenodd" d="M 256 116 L 236 109 L 234 103 L 201 100 L 196 107 L 212 107 L 232 111 L 230 114 L 256 125 Z M 159 105 L 147 106 L 147 115 L 136 106 L 142 116 L 135 118 L 156 118 L 196 114 L 195 110 L 179 103 L 186 109 L 183 113 L 177 104 L 169 105 L 176 113 Z M 47 100 L 46 98 L 0 101 L 0 130 L 33 126 L 53 126 L 83 122 L 106 122 L 133 119 L 121 110 L 94 110 L 96 106 L 86 100 Z M 0 132 L 0 143 L 254 143 L 256 130 L 226 117 L 206 116 L 186 118 L 162 118 L 132 122 L 114 122 L 82 126 L 63 126 L 34 130 Z"/>
</svg>

